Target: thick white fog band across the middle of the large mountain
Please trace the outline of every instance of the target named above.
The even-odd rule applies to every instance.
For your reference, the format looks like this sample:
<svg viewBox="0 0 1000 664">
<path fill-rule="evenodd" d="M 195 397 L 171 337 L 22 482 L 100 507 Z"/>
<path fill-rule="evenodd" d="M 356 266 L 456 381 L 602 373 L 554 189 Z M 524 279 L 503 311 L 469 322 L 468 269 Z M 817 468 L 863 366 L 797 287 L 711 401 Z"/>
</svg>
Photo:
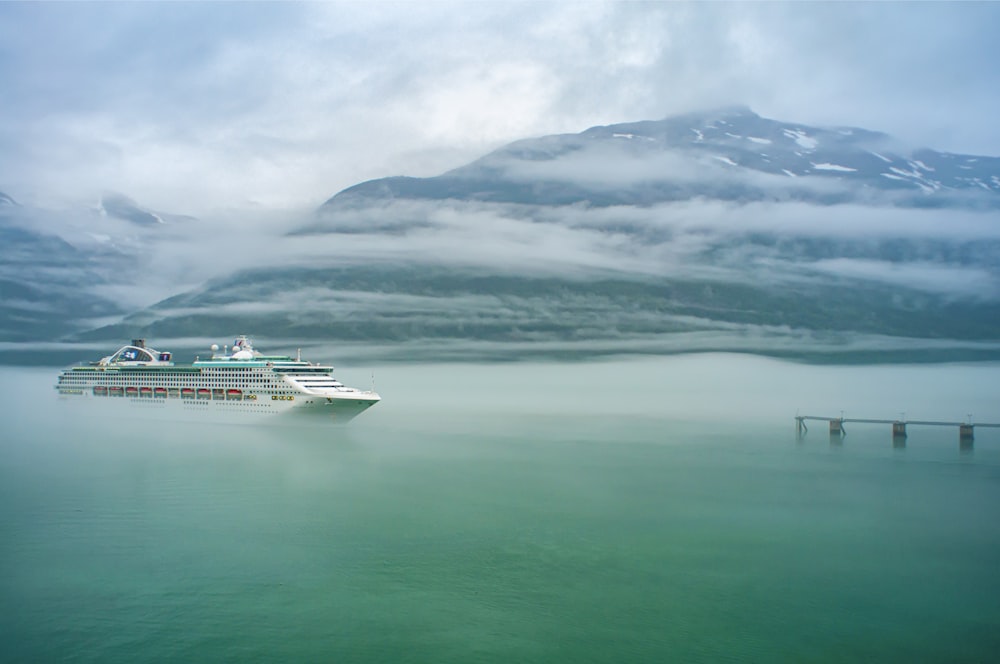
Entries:
<svg viewBox="0 0 1000 664">
<path fill-rule="evenodd" d="M 833 275 L 960 298 L 1000 295 L 994 212 L 712 201 L 611 208 L 399 201 L 340 212 L 330 225 L 334 232 L 286 235 L 302 218 L 169 229 L 150 242 L 148 272 L 136 275 L 140 292 L 131 299 L 152 304 L 152 282 L 165 297 L 238 270 L 380 263 L 569 279 L 617 273 L 738 283 L 752 274 L 758 283 L 783 284 Z M 391 220 L 404 225 L 383 232 L 379 222 Z M 759 237 L 771 240 L 762 244 Z M 801 241 L 834 255 L 803 255 Z M 903 255 L 882 256 L 883 247 L 897 245 Z"/>
</svg>

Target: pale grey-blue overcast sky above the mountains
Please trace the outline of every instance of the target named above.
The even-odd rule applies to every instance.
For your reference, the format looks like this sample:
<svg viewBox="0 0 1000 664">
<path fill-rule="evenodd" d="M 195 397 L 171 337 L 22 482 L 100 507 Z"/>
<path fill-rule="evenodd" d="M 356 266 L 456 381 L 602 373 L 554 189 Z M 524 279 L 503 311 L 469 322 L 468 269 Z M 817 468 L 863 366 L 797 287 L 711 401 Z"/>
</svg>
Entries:
<svg viewBox="0 0 1000 664">
<path fill-rule="evenodd" d="M 0 191 L 312 208 L 724 104 L 1000 155 L 1000 3 L 0 3 Z"/>
</svg>

